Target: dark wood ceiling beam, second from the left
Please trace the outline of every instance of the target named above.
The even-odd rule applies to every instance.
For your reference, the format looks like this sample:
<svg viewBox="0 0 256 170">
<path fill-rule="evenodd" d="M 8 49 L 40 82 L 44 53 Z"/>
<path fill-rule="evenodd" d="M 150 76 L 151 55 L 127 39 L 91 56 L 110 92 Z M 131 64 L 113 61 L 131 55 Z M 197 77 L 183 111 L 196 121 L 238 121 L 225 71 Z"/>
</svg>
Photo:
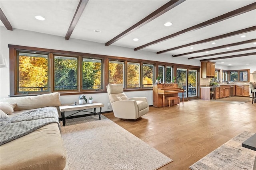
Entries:
<svg viewBox="0 0 256 170">
<path fill-rule="evenodd" d="M 76 12 L 73 16 L 73 19 L 69 25 L 68 31 L 66 33 L 65 39 L 69 39 L 72 32 L 74 31 L 76 24 L 78 23 L 80 17 L 82 16 L 82 13 L 84 12 L 84 8 L 86 7 L 89 0 L 80 0 L 78 3 L 78 6 L 76 8 Z"/>
</svg>

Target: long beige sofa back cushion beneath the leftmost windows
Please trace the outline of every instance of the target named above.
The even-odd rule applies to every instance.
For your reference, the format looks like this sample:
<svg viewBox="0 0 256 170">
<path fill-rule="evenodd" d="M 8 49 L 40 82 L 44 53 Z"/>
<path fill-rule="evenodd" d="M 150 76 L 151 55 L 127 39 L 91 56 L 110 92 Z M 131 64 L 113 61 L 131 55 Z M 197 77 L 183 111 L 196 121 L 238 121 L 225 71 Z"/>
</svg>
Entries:
<svg viewBox="0 0 256 170">
<path fill-rule="evenodd" d="M 3 98 L 1 101 L 16 103 L 16 107 L 14 108 L 15 111 L 61 105 L 59 92 L 42 94 L 38 96 Z"/>
</svg>

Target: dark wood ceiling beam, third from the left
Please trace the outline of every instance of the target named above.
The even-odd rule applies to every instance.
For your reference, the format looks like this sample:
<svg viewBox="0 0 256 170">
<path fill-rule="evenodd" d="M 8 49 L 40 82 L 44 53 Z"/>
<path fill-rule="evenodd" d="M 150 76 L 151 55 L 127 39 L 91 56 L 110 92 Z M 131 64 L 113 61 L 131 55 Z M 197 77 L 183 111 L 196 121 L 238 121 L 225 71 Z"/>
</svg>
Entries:
<svg viewBox="0 0 256 170">
<path fill-rule="evenodd" d="M 154 12 L 152 12 L 151 14 L 149 14 L 148 16 L 143 18 L 142 20 L 138 21 L 136 24 L 132 25 L 130 28 L 126 29 L 124 32 L 120 33 L 119 35 L 117 35 L 116 37 L 114 37 L 113 39 L 108 41 L 105 45 L 106 46 L 111 45 L 112 43 L 118 41 L 119 39 L 128 35 L 132 31 L 135 31 L 136 29 L 142 27 L 146 23 L 149 23 L 150 21 L 152 21 L 155 18 L 161 16 L 165 12 L 167 12 L 167 11 L 171 10 L 172 8 L 178 6 L 179 4 L 181 4 L 184 1 L 185 0 L 170 0 L 169 2 L 164 4 L 163 6 L 161 6 L 160 8 L 158 8 L 157 10 L 155 10 Z"/>
</svg>

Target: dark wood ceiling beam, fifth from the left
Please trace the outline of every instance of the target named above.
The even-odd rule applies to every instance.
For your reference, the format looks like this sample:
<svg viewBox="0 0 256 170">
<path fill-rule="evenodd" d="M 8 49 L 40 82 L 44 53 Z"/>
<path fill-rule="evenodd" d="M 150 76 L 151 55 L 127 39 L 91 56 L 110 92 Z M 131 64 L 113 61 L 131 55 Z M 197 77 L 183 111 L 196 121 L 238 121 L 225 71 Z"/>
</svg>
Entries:
<svg viewBox="0 0 256 170">
<path fill-rule="evenodd" d="M 256 30 L 256 26 L 252 26 L 252 27 L 248 27 L 248 28 L 245 28 L 245 29 L 240 29 L 238 31 L 233 31 L 233 32 L 230 32 L 230 33 L 218 35 L 216 37 L 211 37 L 211 38 L 203 39 L 203 40 L 196 41 L 196 42 L 193 42 L 193 43 L 188 43 L 186 45 L 180 45 L 178 47 L 173 47 L 171 49 L 166 49 L 166 50 L 163 50 L 163 51 L 158 51 L 156 54 L 161 54 L 161 53 L 165 53 L 167 51 L 172 51 L 172 50 L 188 47 L 190 45 L 207 43 L 207 42 L 210 42 L 210 41 L 215 41 L 215 40 L 218 40 L 218 39 L 227 38 L 227 37 L 231 37 L 231 36 L 238 35 L 238 34 L 241 34 L 241 33 L 247 33 L 247 32 L 250 32 L 250 31 L 255 31 L 255 30 Z"/>
</svg>

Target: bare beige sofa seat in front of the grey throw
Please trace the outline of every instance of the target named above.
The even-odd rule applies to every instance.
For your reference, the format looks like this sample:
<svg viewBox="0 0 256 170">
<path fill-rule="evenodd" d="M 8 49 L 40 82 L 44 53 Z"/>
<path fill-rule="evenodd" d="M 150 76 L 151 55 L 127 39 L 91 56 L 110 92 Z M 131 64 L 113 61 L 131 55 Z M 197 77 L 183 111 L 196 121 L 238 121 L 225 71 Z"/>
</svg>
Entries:
<svg viewBox="0 0 256 170">
<path fill-rule="evenodd" d="M 66 152 L 57 123 L 0 146 L 1 170 L 63 170 Z"/>
</svg>

